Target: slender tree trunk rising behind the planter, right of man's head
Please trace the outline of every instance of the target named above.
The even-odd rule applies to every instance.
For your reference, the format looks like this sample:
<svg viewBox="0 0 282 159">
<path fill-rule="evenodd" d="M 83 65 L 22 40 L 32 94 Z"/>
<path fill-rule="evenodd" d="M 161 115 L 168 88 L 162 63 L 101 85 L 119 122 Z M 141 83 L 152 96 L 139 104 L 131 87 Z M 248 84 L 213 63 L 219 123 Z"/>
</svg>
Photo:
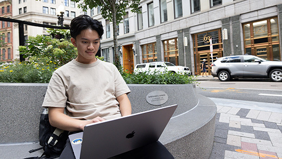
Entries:
<svg viewBox="0 0 282 159">
<path fill-rule="evenodd" d="M 120 65 L 119 56 L 118 56 L 118 46 L 117 46 L 117 30 L 116 30 L 116 8 L 113 5 L 113 41 L 114 41 L 114 65 L 120 70 L 122 67 Z"/>
</svg>

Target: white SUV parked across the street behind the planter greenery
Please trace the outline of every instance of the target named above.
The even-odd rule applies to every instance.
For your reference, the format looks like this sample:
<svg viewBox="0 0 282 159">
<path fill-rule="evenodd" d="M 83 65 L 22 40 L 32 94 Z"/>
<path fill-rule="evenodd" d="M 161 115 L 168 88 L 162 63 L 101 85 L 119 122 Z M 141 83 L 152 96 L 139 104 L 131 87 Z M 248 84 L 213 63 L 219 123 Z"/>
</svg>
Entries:
<svg viewBox="0 0 282 159">
<path fill-rule="evenodd" d="M 166 70 L 172 73 L 181 73 L 191 75 L 189 67 L 184 66 L 175 66 L 169 62 L 152 62 L 152 63 L 143 63 L 137 64 L 134 67 L 133 72 L 154 72 L 155 70 L 160 72 L 165 72 Z"/>
</svg>

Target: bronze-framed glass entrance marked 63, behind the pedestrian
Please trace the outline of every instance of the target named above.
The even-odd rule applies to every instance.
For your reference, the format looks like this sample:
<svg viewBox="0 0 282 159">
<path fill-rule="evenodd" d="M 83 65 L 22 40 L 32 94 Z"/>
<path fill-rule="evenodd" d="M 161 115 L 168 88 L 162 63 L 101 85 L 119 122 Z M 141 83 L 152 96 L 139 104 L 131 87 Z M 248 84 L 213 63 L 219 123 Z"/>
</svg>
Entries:
<svg viewBox="0 0 282 159">
<path fill-rule="evenodd" d="M 202 73 L 200 65 L 203 63 L 204 59 L 206 59 L 206 64 L 208 66 L 207 73 L 210 75 L 212 62 L 216 61 L 217 57 L 223 56 L 221 29 L 193 34 L 192 37 L 195 60 L 195 74 L 199 75 Z"/>
</svg>

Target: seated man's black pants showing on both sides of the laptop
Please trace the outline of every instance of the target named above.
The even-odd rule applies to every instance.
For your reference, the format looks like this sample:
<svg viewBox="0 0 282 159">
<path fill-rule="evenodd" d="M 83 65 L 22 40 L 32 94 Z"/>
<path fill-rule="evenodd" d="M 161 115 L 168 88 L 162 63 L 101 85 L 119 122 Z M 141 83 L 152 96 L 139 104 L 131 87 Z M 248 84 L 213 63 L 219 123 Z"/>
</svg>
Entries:
<svg viewBox="0 0 282 159">
<path fill-rule="evenodd" d="M 110 159 L 129 159 L 129 158 L 130 159 L 131 158 L 134 158 L 134 159 L 143 159 L 143 158 L 144 159 L 145 158 L 146 159 L 150 159 L 150 158 L 164 159 L 164 158 L 167 158 L 167 159 L 170 159 L 174 157 L 163 144 L 157 141 L 152 144 L 113 156 Z M 75 159 L 69 139 L 59 159 Z"/>
</svg>

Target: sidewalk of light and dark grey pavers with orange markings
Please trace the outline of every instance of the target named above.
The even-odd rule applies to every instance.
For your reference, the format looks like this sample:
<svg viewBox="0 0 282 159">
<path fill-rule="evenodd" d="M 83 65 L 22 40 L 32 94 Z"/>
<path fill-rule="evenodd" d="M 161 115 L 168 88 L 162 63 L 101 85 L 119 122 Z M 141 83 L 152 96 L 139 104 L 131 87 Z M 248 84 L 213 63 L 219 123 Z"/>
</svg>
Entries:
<svg viewBox="0 0 282 159">
<path fill-rule="evenodd" d="M 216 128 L 210 159 L 282 159 L 281 111 L 254 109 L 255 105 L 246 109 L 215 104 Z"/>
</svg>

